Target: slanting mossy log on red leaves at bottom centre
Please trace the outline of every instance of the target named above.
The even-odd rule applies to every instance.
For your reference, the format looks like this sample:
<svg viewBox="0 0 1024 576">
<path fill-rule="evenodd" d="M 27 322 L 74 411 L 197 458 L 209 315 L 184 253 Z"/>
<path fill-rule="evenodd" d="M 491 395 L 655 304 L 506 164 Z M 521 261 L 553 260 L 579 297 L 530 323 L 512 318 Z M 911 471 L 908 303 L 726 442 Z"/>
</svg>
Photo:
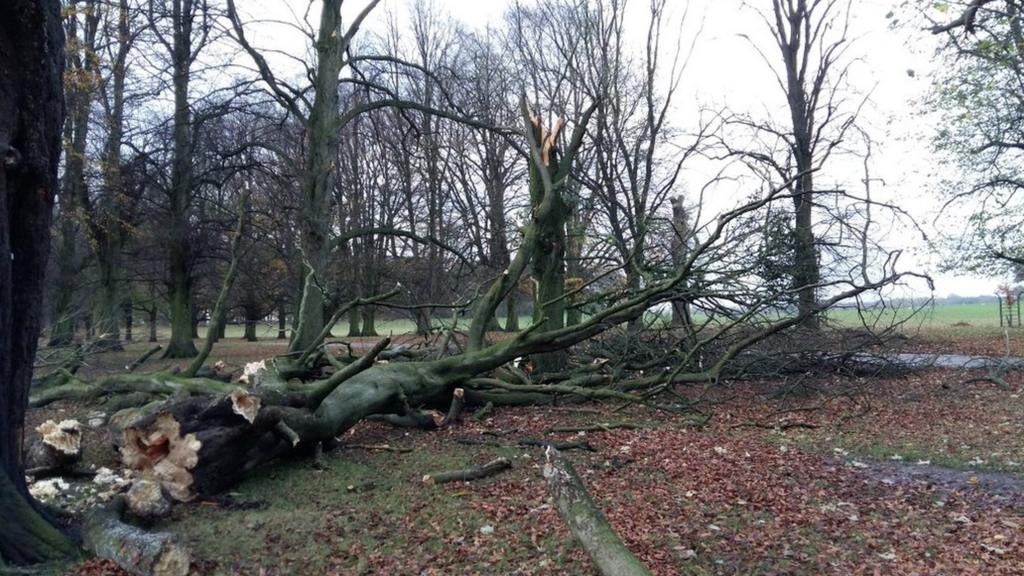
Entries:
<svg viewBox="0 0 1024 576">
<path fill-rule="evenodd" d="M 572 465 L 558 450 L 548 447 L 544 478 L 555 506 L 569 531 L 603 576 L 650 576 L 643 565 L 608 524 L 591 499 Z"/>
</svg>

